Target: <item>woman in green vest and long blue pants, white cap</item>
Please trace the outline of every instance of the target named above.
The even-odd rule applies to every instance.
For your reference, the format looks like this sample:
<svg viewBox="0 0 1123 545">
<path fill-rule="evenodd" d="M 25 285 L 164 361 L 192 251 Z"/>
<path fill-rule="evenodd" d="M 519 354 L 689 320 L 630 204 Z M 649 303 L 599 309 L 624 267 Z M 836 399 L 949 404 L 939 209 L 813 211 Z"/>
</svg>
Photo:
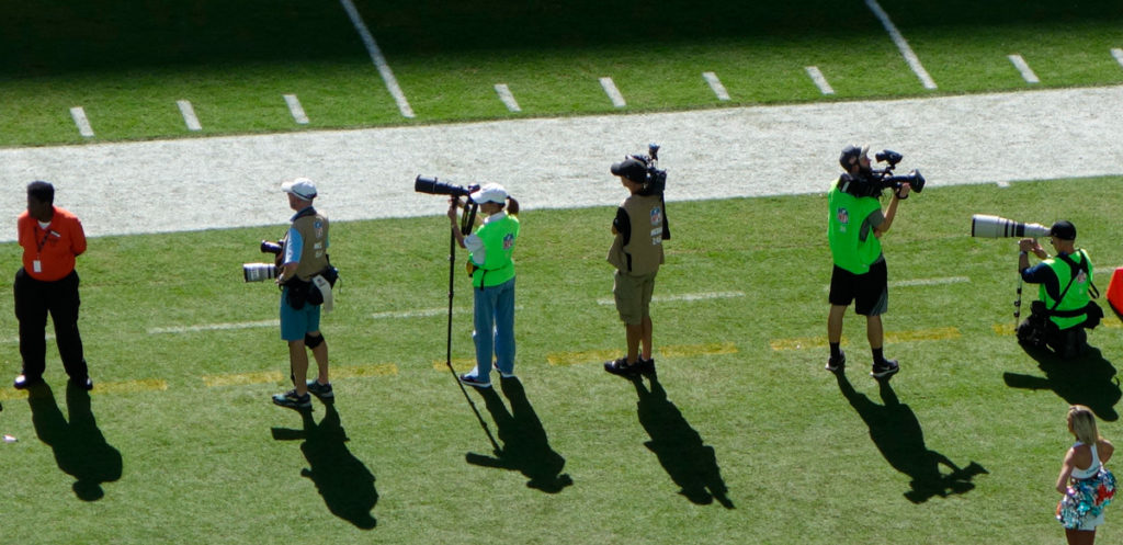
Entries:
<svg viewBox="0 0 1123 545">
<path fill-rule="evenodd" d="M 472 272 L 476 344 L 476 366 L 460 375 L 460 382 L 491 388 L 492 357 L 500 376 L 514 376 L 514 261 L 511 254 L 519 238 L 519 202 L 496 183 L 468 196 L 486 218 L 476 233 L 465 236 L 457 222 L 458 198 L 450 199 L 448 218 L 453 236 L 468 251 Z"/>
</svg>

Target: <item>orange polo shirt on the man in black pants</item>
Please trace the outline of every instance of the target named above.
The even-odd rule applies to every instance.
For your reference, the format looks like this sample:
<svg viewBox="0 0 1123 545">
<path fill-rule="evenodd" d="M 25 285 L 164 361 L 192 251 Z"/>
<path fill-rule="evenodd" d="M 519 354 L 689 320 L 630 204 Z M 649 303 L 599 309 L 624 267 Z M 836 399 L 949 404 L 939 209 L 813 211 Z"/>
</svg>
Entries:
<svg viewBox="0 0 1123 545">
<path fill-rule="evenodd" d="M 46 229 L 27 214 L 16 221 L 19 245 L 24 247 L 24 269 L 35 280 L 54 282 L 74 270 L 74 257 L 85 252 L 82 221 L 69 210 L 54 207 L 55 215 Z M 38 266 L 36 266 L 38 262 Z"/>
</svg>

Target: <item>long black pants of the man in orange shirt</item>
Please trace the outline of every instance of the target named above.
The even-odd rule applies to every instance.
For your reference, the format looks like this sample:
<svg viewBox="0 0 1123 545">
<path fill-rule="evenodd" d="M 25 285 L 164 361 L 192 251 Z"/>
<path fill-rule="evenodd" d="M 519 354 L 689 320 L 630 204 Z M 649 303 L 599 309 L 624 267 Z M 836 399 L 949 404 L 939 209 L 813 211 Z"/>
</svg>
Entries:
<svg viewBox="0 0 1123 545">
<path fill-rule="evenodd" d="M 82 355 L 82 337 L 77 333 L 79 278 L 76 271 L 62 280 L 35 280 L 27 271 L 16 273 L 16 318 L 19 320 L 19 354 L 24 357 L 24 374 L 28 379 L 43 376 L 47 353 L 47 314 L 55 324 L 55 343 L 66 374 L 85 380 L 89 370 Z"/>
</svg>

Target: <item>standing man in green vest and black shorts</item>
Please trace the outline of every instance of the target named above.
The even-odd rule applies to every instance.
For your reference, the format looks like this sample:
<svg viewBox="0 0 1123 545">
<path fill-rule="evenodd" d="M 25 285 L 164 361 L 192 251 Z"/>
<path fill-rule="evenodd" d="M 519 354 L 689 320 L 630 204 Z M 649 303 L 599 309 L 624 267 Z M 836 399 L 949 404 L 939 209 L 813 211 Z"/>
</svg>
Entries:
<svg viewBox="0 0 1123 545">
<path fill-rule="evenodd" d="M 901 367 L 895 360 L 886 360 L 882 352 L 882 315 L 888 309 L 889 292 L 880 238 L 893 225 L 897 203 L 909 198 L 911 187 L 903 183 L 894 190 L 889 206 L 883 212 L 878 197 L 884 188 L 871 178 L 868 152 L 869 146 L 847 146 L 842 149 L 839 164 L 846 172 L 828 193 L 830 218 L 827 237 L 834 267 L 828 296 L 831 310 L 827 318 L 827 339 L 831 354 L 827 360 L 827 370 L 841 373 L 846 369 L 846 354 L 840 348 L 842 318 L 850 302 L 855 302 L 855 311 L 866 317 L 866 337 L 874 353 L 870 375 L 882 379 Z"/>
</svg>

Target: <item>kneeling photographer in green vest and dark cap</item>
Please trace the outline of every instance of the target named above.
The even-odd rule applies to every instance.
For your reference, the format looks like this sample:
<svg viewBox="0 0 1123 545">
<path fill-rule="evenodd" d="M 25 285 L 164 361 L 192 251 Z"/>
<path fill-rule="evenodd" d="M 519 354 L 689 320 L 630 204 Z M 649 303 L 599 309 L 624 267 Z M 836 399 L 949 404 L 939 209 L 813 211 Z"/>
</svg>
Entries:
<svg viewBox="0 0 1123 545">
<path fill-rule="evenodd" d="M 1017 340 L 1035 347 L 1050 347 L 1068 360 L 1087 348 L 1086 328 L 1099 325 L 1103 310 L 1092 301 L 1098 297 L 1092 283 L 1092 260 L 1076 248 L 1076 226 L 1060 220 L 1049 228 L 1049 242 L 1057 251 L 1050 257 L 1035 238 L 1017 242 L 1021 249 L 1017 271 L 1022 280 L 1040 284 L 1039 300 L 1030 305 L 1030 317 L 1017 326 Z M 1029 254 L 1042 260 L 1030 266 Z M 1093 296 L 1095 293 L 1095 296 Z"/>
</svg>

